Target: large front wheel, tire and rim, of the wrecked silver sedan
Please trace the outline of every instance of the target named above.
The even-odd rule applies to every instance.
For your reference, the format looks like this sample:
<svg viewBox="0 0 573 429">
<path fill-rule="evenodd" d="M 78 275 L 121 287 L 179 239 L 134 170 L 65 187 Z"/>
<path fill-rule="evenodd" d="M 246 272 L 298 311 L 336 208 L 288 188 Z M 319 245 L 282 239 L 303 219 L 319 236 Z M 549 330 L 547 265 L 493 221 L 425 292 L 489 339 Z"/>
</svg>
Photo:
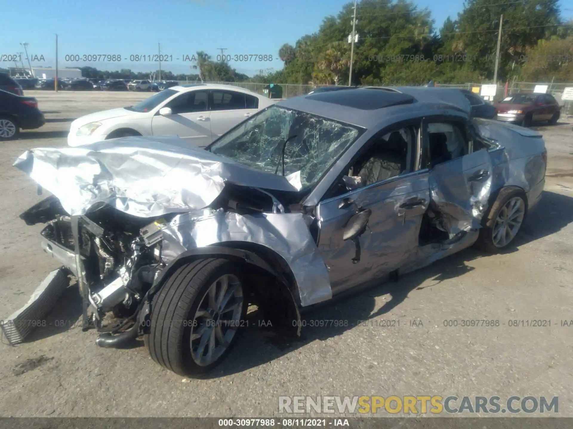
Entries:
<svg viewBox="0 0 573 429">
<path fill-rule="evenodd" d="M 242 267 L 226 259 L 183 265 L 151 304 L 144 340 L 151 358 L 179 375 L 199 375 L 230 352 L 246 315 Z"/>
</svg>

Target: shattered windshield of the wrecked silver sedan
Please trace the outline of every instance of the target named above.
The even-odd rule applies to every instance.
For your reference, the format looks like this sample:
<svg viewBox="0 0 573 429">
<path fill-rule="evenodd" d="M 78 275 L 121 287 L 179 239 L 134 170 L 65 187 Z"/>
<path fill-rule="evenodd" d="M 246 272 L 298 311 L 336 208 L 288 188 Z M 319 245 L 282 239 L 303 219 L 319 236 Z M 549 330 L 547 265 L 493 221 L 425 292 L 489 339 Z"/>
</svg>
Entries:
<svg viewBox="0 0 573 429">
<path fill-rule="evenodd" d="M 362 134 L 350 124 L 271 106 L 225 134 L 210 146 L 215 154 L 240 164 L 315 184 Z M 283 161 L 284 158 L 284 161 Z"/>
</svg>

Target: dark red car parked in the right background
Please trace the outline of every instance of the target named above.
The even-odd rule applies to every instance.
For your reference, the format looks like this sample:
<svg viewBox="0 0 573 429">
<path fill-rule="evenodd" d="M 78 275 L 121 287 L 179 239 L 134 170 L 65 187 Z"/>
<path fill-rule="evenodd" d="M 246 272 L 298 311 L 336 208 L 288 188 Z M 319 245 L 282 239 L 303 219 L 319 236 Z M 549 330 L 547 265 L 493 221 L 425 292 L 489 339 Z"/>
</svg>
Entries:
<svg viewBox="0 0 573 429">
<path fill-rule="evenodd" d="M 557 100 L 550 94 L 509 94 L 494 106 L 497 109 L 497 120 L 516 122 L 521 126 L 530 126 L 537 121 L 548 121 L 555 125 L 561 110 Z"/>
</svg>

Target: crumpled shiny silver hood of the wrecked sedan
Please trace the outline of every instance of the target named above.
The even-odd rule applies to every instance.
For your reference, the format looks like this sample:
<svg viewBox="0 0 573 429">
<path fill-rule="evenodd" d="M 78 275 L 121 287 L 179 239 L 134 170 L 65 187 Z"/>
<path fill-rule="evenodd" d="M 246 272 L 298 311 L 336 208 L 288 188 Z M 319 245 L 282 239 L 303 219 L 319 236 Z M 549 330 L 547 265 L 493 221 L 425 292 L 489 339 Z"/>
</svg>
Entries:
<svg viewBox="0 0 573 429">
<path fill-rule="evenodd" d="M 32 149 L 14 166 L 53 193 L 72 216 L 84 215 L 101 203 L 139 217 L 202 209 L 226 182 L 298 190 L 288 177 L 249 168 L 171 136 Z"/>
</svg>

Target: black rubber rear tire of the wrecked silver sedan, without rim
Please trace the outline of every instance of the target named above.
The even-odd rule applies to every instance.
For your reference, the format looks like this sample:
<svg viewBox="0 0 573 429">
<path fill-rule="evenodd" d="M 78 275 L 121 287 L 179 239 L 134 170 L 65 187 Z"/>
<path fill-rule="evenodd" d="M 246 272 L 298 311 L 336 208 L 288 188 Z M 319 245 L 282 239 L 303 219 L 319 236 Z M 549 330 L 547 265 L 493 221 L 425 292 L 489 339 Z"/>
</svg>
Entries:
<svg viewBox="0 0 573 429">
<path fill-rule="evenodd" d="M 520 197 L 521 200 L 523 200 L 524 204 L 523 220 L 521 221 L 521 225 L 517 230 L 516 235 L 513 236 L 511 240 L 509 240 L 503 246 L 496 246 L 493 243 L 493 228 L 496 219 L 499 216 L 504 205 L 514 197 Z M 526 218 L 527 218 L 527 197 L 525 196 L 525 192 L 523 192 L 523 189 L 514 187 L 501 189 L 499 194 L 497 194 L 496 200 L 493 202 L 488 212 L 486 212 L 484 217 L 482 218 L 480 235 L 478 236 L 478 239 L 474 244 L 475 247 L 489 253 L 500 252 L 502 249 L 507 248 L 508 245 L 513 242 L 515 237 L 519 235 L 521 229 L 523 228 L 523 224 Z"/>
</svg>

